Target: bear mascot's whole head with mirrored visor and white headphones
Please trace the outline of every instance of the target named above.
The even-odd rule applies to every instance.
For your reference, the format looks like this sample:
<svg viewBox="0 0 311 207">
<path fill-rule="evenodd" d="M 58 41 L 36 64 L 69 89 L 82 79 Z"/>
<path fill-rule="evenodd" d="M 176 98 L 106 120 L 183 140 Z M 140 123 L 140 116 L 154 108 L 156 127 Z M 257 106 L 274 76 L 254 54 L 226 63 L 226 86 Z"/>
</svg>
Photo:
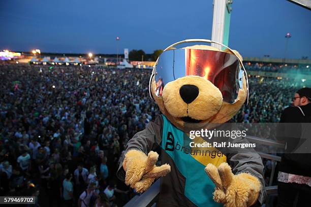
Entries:
<svg viewBox="0 0 311 207">
<path fill-rule="evenodd" d="M 177 49 L 182 43 L 220 43 L 185 40 L 164 50 L 150 77 L 149 92 L 161 112 L 177 128 L 209 128 L 230 120 L 248 99 L 247 74 L 237 51 L 207 45 Z"/>
</svg>

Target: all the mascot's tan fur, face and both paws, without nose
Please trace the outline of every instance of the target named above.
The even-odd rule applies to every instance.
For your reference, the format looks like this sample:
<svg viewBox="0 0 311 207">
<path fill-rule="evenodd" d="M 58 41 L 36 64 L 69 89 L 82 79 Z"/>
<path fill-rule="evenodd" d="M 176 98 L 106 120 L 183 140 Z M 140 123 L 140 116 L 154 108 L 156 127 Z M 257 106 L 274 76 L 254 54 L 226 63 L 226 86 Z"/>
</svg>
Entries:
<svg viewBox="0 0 311 207">
<path fill-rule="evenodd" d="M 211 46 L 202 45 L 186 48 L 219 51 Z M 224 52 L 231 53 L 228 50 Z M 234 52 L 242 60 L 241 55 L 237 51 Z M 195 85 L 199 88 L 199 95 L 189 105 L 179 95 L 180 87 L 185 84 Z M 211 82 L 197 76 L 182 77 L 167 83 L 163 89 L 162 97 L 155 95 L 154 88 L 153 77 L 151 92 L 155 102 L 169 121 L 184 132 L 202 128 L 209 129 L 227 122 L 240 110 L 247 96 L 245 77 L 243 77 L 243 88 L 239 90 L 237 100 L 233 104 L 223 101 L 220 90 Z M 184 123 L 181 118 L 186 116 L 201 120 L 201 122 Z M 154 163 L 157 160 L 158 154 L 152 151 L 148 157 L 137 150 L 129 151 L 123 162 L 123 168 L 126 170 L 126 184 L 131 185 L 138 192 L 143 192 L 150 187 L 154 179 L 170 172 L 168 164 L 155 166 Z M 260 182 L 254 176 L 250 174 L 235 176 L 227 163 L 220 164 L 218 168 L 208 164 L 205 171 L 216 186 L 213 193 L 213 199 L 216 202 L 224 203 L 229 207 L 245 207 L 254 204 L 258 199 Z"/>
</svg>

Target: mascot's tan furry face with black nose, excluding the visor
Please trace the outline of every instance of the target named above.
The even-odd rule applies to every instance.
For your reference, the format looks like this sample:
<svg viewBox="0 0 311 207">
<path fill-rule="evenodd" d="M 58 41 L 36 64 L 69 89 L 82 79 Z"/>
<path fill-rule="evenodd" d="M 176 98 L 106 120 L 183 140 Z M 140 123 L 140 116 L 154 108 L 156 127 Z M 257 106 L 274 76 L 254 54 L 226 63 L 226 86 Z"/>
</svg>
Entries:
<svg viewBox="0 0 311 207">
<path fill-rule="evenodd" d="M 217 50 L 201 45 L 186 48 Z M 199 76 L 185 76 L 167 83 L 161 97 L 155 95 L 154 89 L 153 77 L 151 92 L 155 102 L 170 122 L 181 130 L 185 127 L 187 130 L 206 128 L 208 123 L 225 123 L 239 111 L 247 97 L 245 77 L 234 103 L 224 101 L 221 91 Z"/>
</svg>

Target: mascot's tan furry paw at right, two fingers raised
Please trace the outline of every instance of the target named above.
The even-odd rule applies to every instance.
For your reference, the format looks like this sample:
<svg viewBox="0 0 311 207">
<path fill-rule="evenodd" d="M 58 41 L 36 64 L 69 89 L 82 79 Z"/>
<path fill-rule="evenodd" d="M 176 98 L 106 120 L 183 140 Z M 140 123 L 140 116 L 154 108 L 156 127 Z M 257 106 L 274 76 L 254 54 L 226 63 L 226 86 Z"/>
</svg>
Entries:
<svg viewBox="0 0 311 207">
<path fill-rule="evenodd" d="M 226 207 L 246 207 L 255 204 L 260 191 L 259 180 L 247 173 L 233 175 L 231 167 L 222 163 L 216 168 L 213 164 L 205 167 L 205 172 L 215 184 L 215 202 Z"/>
</svg>

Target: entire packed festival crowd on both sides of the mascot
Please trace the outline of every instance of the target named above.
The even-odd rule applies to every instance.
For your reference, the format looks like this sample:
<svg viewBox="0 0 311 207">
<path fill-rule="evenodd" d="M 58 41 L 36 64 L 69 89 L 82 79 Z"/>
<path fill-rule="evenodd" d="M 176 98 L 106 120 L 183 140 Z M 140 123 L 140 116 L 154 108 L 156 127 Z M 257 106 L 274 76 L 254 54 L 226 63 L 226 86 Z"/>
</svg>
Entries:
<svg viewBox="0 0 311 207">
<path fill-rule="evenodd" d="M 149 70 L 0 65 L 0 192 L 42 206 L 122 206 L 135 192 L 115 177 L 125 145 L 160 114 Z M 249 78 L 233 122 L 278 122 L 303 83 Z"/>
</svg>

